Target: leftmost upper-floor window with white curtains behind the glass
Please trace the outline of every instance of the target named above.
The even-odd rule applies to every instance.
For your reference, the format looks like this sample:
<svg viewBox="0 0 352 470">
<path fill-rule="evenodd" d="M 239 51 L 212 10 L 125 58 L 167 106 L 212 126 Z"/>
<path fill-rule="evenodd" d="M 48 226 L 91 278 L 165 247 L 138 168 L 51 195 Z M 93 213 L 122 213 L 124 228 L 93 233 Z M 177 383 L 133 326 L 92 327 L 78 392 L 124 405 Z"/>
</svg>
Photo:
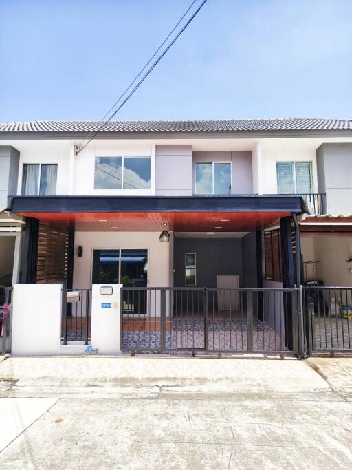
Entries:
<svg viewBox="0 0 352 470">
<path fill-rule="evenodd" d="M 57 165 L 23 164 L 22 190 L 23 196 L 56 195 Z"/>
</svg>

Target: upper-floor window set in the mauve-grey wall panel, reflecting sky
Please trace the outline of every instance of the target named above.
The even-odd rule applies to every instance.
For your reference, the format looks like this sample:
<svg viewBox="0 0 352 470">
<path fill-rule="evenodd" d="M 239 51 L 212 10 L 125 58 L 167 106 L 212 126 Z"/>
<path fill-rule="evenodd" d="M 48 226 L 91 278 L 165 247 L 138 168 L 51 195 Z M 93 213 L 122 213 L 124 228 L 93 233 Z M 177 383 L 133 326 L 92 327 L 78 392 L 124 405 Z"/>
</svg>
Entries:
<svg viewBox="0 0 352 470">
<path fill-rule="evenodd" d="M 231 194 L 231 163 L 196 163 L 196 194 Z"/>
</svg>

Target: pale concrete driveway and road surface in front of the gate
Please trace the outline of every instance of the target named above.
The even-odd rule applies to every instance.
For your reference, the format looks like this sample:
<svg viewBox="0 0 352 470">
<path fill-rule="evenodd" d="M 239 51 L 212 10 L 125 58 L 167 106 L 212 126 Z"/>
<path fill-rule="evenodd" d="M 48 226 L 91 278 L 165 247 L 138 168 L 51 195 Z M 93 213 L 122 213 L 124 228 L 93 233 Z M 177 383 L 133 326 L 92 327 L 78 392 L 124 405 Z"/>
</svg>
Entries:
<svg viewBox="0 0 352 470">
<path fill-rule="evenodd" d="M 10 358 L 0 380 L 0 469 L 352 467 L 352 394 L 307 361 Z"/>
</svg>

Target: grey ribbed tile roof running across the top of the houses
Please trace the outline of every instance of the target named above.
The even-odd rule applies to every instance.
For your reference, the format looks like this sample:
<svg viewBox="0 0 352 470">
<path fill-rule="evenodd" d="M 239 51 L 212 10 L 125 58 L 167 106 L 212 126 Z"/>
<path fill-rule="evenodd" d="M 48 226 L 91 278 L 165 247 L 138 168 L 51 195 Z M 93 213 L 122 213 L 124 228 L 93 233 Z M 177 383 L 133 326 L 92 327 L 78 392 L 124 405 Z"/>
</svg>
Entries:
<svg viewBox="0 0 352 470">
<path fill-rule="evenodd" d="M 2 122 L 0 132 L 64 132 L 96 131 L 101 121 L 28 121 Z M 352 119 L 240 119 L 240 120 L 175 120 L 175 121 L 110 121 L 102 132 L 165 132 L 165 131 L 317 131 L 352 130 Z"/>
</svg>

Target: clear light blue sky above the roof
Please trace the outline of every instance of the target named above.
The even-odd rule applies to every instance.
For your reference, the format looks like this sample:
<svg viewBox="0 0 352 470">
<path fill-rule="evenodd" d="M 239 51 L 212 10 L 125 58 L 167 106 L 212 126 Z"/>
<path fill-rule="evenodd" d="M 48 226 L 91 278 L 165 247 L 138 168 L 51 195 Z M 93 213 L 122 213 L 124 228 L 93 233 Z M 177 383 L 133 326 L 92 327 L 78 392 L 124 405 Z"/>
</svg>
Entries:
<svg viewBox="0 0 352 470">
<path fill-rule="evenodd" d="M 0 121 L 98 120 L 190 0 L 0 0 Z M 352 117 L 351 0 L 208 0 L 116 119 Z"/>
</svg>

